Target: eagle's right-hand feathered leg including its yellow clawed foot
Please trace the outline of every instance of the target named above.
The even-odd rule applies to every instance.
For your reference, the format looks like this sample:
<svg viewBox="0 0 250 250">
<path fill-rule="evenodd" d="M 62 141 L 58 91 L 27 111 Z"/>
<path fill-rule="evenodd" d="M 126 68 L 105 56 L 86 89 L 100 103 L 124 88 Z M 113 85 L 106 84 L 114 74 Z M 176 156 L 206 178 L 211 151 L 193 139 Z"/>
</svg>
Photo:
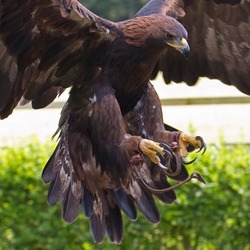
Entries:
<svg viewBox="0 0 250 250">
<path fill-rule="evenodd" d="M 151 83 L 148 83 L 147 89 L 135 108 L 124 118 L 131 134 L 165 142 L 172 147 L 177 143 L 182 157 L 187 156 L 188 151 L 205 148 L 200 136 L 188 135 L 181 131 L 173 131 L 173 129 L 172 131 L 165 130 L 160 99 Z"/>
</svg>

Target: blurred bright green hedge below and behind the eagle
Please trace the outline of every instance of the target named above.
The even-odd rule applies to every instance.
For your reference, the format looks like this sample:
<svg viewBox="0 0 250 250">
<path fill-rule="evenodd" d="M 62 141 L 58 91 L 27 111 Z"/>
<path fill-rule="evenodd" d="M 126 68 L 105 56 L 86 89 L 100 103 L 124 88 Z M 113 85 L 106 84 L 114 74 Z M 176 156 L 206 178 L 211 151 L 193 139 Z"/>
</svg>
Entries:
<svg viewBox="0 0 250 250">
<path fill-rule="evenodd" d="M 173 205 L 158 202 L 161 222 L 124 216 L 124 241 L 92 243 L 80 214 L 67 224 L 49 207 L 41 172 L 55 144 L 32 138 L 0 150 L 0 250 L 5 249 L 250 249 L 250 147 L 211 145 L 189 171 L 205 177 L 177 189 Z M 191 169 L 192 167 L 192 169 Z"/>
</svg>

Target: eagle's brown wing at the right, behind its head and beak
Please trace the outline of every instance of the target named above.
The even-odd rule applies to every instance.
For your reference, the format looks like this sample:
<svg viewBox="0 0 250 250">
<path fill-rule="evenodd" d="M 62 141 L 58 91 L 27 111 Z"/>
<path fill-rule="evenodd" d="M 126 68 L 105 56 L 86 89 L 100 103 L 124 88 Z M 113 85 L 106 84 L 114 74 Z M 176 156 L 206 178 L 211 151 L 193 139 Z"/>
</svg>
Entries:
<svg viewBox="0 0 250 250">
<path fill-rule="evenodd" d="M 186 15 L 182 18 L 183 6 Z M 166 83 L 183 81 L 188 85 L 208 77 L 250 94 L 249 0 L 152 0 L 138 14 L 152 11 L 179 17 L 191 47 L 188 60 L 173 49 L 166 50 L 154 76 L 161 70 Z"/>
</svg>

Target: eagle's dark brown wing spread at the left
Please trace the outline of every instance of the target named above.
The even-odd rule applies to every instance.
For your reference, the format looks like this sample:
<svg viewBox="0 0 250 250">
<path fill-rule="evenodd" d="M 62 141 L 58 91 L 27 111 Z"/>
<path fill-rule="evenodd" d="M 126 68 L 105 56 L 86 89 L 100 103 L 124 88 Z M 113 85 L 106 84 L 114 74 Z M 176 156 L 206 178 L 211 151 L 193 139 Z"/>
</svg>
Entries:
<svg viewBox="0 0 250 250">
<path fill-rule="evenodd" d="M 111 26 L 76 0 L 0 1 L 0 118 L 20 100 L 42 108 L 77 84 Z"/>
</svg>

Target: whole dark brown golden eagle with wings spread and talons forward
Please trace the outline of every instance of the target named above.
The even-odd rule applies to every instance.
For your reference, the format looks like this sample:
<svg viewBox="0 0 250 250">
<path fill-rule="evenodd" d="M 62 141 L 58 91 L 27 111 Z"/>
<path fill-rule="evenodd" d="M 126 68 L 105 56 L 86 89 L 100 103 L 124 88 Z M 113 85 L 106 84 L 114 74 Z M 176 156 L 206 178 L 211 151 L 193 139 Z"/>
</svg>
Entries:
<svg viewBox="0 0 250 250">
<path fill-rule="evenodd" d="M 167 177 L 204 182 L 183 165 L 203 139 L 165 130 L 149 79 L 159 70 L 167 83 L 207 76 L 250 94 L 249 13 L 248 0 L 151 0 L 111 22 L 76 0 L 0 0 L 0 118 L 17 104 L 43 108 L 71 87 L 42 174 L 67 222 L 81 208 L 94 241 L 120 243 L 121 210 L 157 223 L 153 195 L 176 199 Z"/>
</svg>

